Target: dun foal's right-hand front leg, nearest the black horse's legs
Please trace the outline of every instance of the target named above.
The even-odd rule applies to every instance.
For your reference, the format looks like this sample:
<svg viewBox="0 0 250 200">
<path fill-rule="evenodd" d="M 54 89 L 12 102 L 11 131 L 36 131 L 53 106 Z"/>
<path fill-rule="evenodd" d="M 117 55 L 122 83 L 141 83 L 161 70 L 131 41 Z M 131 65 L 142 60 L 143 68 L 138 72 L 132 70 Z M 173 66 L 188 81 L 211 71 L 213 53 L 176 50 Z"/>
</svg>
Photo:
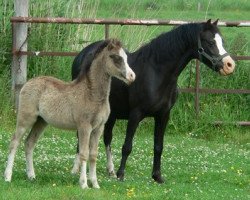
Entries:
<svg viewBox="0 0 250 200">
<path fill-rule="evenodd" d="M 100 188 L 96 176 L 96 159 L 98 155 L 98 144 L 103 133 L 104 124 L 100 125 L 90 135 L 89 141 L 89 178 L 93 188 Z"/>
</svg>

